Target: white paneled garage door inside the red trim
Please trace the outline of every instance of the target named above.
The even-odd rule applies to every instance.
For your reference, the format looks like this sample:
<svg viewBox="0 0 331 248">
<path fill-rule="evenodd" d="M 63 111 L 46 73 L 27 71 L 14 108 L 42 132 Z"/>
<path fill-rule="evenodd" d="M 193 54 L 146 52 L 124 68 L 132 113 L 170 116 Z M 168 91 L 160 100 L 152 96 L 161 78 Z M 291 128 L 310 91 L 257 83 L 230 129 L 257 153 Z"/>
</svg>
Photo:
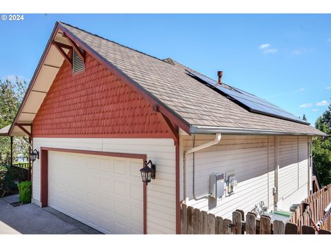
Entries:
<svg viewBox="0 0 331 248">
<path fill-rule="evenodd" d="M 143 234 L 142 164 L 48 152 L 48 205 L 106 234 Z"/>
</svg>

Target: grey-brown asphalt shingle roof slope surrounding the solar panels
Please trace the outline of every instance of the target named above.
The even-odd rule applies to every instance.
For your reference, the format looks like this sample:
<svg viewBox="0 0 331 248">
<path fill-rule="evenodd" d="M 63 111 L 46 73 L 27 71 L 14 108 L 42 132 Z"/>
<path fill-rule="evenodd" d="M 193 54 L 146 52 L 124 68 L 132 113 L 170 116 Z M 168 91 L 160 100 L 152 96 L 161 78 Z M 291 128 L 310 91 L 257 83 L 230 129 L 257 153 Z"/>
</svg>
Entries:
<svg viewBox="0 0 331 248">
<path fill-rule="evenodd" d="M 71 25 L 61 25 L 190 125 L 324 135 L 310 125 L 249 112 L 193 79 L 176 61 L 157 59 Z"/>
</svg>

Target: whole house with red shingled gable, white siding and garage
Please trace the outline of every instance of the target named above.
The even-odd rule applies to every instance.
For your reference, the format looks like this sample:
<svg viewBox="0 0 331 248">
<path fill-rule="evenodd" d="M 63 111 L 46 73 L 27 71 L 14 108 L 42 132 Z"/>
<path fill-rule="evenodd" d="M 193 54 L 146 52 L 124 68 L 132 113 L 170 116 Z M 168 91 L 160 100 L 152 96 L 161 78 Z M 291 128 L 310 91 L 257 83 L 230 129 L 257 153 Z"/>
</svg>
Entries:
<svg viewBox="0 0 331 248">
<path fill-rule="evenodd" d="M 6 133 L 39 152 L 32 202 L 110 234 L 180 234 L 183 201 L 225 218 L 300 203 L 325 134 L 221 75 L 56 23 Z"/>
</svg>

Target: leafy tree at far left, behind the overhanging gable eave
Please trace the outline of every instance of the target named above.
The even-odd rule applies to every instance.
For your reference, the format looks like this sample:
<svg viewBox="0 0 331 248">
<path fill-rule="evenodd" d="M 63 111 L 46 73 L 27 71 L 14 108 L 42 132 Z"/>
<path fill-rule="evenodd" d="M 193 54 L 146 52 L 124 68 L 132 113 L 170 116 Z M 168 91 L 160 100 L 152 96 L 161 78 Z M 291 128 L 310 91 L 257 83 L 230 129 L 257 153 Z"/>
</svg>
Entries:
<svg viewBox="0 0 331 248">
<path fill-rule="evenodd" d="M 10 79 L 0 80 L 0 128 L 10 125 L 19 110 L 19 105 L 26 92 L 26 81 L 17 76 L 14 81 Z M 18 153 L 27 153 L 26 144 L 21 138 L 14 138 L 14 156 Z M 0 164 L 8 164 L 10 161 L 10 138 L 0 137 Z"/>
</svg>

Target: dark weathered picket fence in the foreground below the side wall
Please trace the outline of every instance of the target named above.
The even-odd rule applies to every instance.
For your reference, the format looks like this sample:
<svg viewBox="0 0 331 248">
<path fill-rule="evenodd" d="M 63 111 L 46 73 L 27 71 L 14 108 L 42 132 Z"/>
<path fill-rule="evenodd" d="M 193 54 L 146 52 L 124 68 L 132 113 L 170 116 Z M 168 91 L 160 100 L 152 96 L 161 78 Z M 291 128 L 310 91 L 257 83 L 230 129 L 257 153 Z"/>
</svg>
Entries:
<svg viewBox="0 0 331 248">
<path fill-rule="evenodd" d="M 245 215 L 239 209 L 232 213 L 232 220 L 223 219 L 182 204 L 181 234 L 316 234 L 316 231 L 308 225 L 299 227 L 280 220 L 272 223 L 269 216 L 258 220 L 256 214 Z M 331 234 L 331 231 L 320 230 L 319 234 Z"/>
</svg>

